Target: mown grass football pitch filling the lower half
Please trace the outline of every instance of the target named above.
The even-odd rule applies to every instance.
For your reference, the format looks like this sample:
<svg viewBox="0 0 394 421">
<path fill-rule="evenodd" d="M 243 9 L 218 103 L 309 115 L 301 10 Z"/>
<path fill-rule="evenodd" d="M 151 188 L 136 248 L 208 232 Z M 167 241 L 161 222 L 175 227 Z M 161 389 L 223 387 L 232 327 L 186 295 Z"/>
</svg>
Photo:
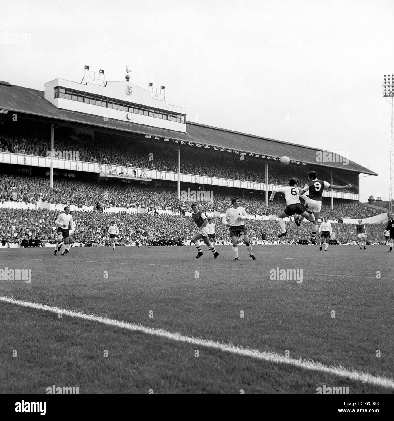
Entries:
<svg viewBox="0 0 394 421">
<path fill-rule="evenodd" d="M 72 248 L 64 257 L 52 248 L 0 250 L 0 269 L 32 271 L 30 283 L 0 280 L 1 297 L 64 310 L 0 301 L 0 392 L 46 393 L 56 385 L 79 393 L 314 394 L 323 384 L 393 392 L 394 253 L 387 247 L 263 245 L 254 246 L 252 261 L 239 246 L 238 262 L 229 246 L 217 248 L 217 259 L 202 249 L 200 259 L 194 247 Z M 302 269 L 302 282 L 270 279 L 278 266 Z M 224 344 L 333 368 L 261 359 Z M 388 378 L 389 386 L 340 375 L 338 367 Z"/>
</svg>

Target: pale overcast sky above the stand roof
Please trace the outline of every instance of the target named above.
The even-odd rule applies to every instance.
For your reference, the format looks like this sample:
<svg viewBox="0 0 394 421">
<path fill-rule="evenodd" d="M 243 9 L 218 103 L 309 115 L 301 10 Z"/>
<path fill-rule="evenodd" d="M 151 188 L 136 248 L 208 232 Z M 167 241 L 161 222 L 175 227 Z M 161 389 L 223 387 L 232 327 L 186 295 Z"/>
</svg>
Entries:
<svg viewBox="0 0 394 421">
<path fill-rule="evenodd" d="M 0 0 L 0 80 L 165 85 L 187 120 L 348 154 L 389 199 L 392 0 Z M 10 34 L 26 34 L 18 44 Z M 363 175 L 363 174 L 361 174 Z"/>
</svg>

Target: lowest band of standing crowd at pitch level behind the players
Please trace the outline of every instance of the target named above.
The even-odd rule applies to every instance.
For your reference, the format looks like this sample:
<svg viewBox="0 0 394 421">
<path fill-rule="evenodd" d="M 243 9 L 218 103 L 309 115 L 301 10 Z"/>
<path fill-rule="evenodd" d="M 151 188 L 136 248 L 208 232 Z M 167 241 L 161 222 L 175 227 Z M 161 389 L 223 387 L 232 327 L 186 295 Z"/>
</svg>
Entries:
<svg viewBox="0 0 394 421">
<path fill-rule="evenodd" d="M 0 209 L 0 239 L 3 245 L 7 242 L 19 243 L 27 247 L 40 247 L 46 242 L 56 242 L 55 220 L 59 211 L 38 209 Z M 139 233 L 147 229 L 150 239 L 167 244 L 191 240 L 196 228 L 188 227 L 190 217 L 175 215 L 158 215 L 155 213 L 102 213 L 79 210 L 74 213 L 76 224 L 75 241 L 107 242 L 107 230 L 110 221 L 115 220 L 119 228 L 120 242 L 130 244 L 139 239 Z M 222 224 L 220 217 L 213 217 L 218 240 L 230 240 L 228 228 Z M 246 222 L 249 238 L 266 241 L 277 241 L 279 224 L 274 220 L 250 219 Z M 297 227 L 294 222 L 286 223 L 288 236 L 284 242 L 308 240 L 311 236 L 311 224 L 303 222 Z M 367 238 L 370 242 L 383 240 L 386 224 L 367 224 Z M 333 238 L 341 243 L 356 240 L 354 224 L 332 224 Z"/>
</svg>

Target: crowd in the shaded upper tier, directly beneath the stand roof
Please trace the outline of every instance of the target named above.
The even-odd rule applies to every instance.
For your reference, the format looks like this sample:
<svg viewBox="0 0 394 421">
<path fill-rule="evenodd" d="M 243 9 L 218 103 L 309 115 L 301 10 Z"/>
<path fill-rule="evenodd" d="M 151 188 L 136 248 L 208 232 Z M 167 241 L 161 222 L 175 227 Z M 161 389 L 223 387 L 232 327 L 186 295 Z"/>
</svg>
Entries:
<svg viewBox="0 0 394 421">
<path fill-rule="evenodd" d="M 132 168 L 177 172 L 177 149 L 173 144 L 165 146 L 136 139 L 125 139 L 123 136 L 111 136 L 110 139 L 94 139 L 86 133 L 78 135 L 57 135 L 54 140 L 56 151 L 78 152 L 78 160 L 104 165 L 120 165 Z M 12 131 L 0 133 L 0 151 L 26 155 L 48 156 L 50 144 L 48 134 L 35 136 L 16 134 Z M 198 154 L 198 160 L 196 160 Z M 265 160 L 230 153 L 212 152 L 204 148 L 183 147 L 181 149 L 180 172 L 199 176 L 220 177 L 242 181 L 265 183 Z M 268 183 L 287 185 L 295 177 L 303 186 L 308 180 L 306 173 L 316 170 L 310 165 L 291 164 L 284 167 L 276 160 L 268 161 Z M 320 168 L 319 179 L 330 182 L 330 171 Z M 346 175 L 344 175 L 346 177 Z M 357 178 L 350 180 L 334 172 L 333 184 L 353 184 L 353 187 L 342 192 L 357 193 Z"/>
</svg>

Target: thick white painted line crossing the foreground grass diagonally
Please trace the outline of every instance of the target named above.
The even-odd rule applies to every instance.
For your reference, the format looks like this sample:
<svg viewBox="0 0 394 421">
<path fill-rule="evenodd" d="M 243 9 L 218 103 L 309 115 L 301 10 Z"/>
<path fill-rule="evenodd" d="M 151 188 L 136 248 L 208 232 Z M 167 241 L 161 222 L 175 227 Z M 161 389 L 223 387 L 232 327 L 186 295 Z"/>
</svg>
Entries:
<svg viewBox="0 0 394 421">
<path fill-rule="evenodd" d="M 116 326 L 117 328 L 124 328 L 132 330 L 134 332 L 142 332 L 147 335 L 160 336 L 162 338 L 170 339 L 172 341 L 185 342 L 187 344 L 204 346 L 206 348 L 217 349 L 222 352 L 230 352 L 231 354 L 242 355 L 244 357 L 256 358 L 257 360 L 263 360 L 273 362 L 275 364 L 287 364 L 294 367 L 303 368 L 306 370 L 314 370 L 322 373 L 332 374 L 334 376 L 346 377 L 350 380 L 362 381 L 363 383 L 373 384 L 374 386 L 386 387 L 387 389 L 394 389 L 394 379 L 373 376 L 369 373 L 363 373 L 362 371 L 347 370 L 342 367 L 331 366 L 328 367 L 320 362 L 306 361 L 306 360 L 295 360 L 294 358 L 284 357 L 283 355 L 276 354 L 275 352 L 259 351 L 258 349 L 243 348 L 240 346 L 220 344 L 219 342 L 210 341 L 206 339 L 190 338 L 189 336 L 183 336 L 180 333 L 171 333 L 163 329 L 146 328 L 142 325 L 135 323 L 120 322 L 119 320 L 108 319 L 107 317 L 97 317 L 91 314 L 83 314 L 75 311 L 61 309 L 59 307 L 52 307 L 44 304 L 32 303 L 29 301 L 16 300 L 15 298 L 0 296 L 0 301 L 10 304 L 17 304 L 19 306 L 31 307 L 38 310 L 46 310 L 52 313 L 61 313 L 62 315 L 70 317 L 78 317 L 80 319 L 89 320 L 91 322 L 99 322 L 109 326 Z"/>
</svg>

